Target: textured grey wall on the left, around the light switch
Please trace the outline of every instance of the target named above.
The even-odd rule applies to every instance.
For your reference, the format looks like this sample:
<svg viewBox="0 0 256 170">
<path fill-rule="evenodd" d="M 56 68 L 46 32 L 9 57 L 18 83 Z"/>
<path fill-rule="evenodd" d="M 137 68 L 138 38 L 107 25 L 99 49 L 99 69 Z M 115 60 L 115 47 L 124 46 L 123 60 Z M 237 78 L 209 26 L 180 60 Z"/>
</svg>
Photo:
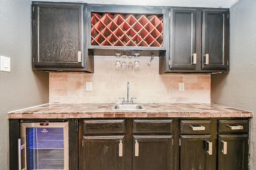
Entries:
<svg viewBox="0 0 256 170">
<path fill-rule="evenodd" d="M 0 72 L 0 169 L 9 169 L 8 111 L 48 102 L 49 75 L 31 70 L 30 0 L 1 0 L 0 55 L 11 72 Z"/>
</svg>

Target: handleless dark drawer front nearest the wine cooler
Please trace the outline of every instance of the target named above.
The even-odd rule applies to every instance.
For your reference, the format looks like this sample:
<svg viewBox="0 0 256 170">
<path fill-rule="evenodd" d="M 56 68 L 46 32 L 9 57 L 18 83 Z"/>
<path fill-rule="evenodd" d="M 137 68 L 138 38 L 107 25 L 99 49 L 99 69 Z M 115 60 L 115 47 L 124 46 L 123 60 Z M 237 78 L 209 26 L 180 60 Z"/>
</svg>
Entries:
<svg viewBox="0 0 256 170">
<path fill-rule="evenodd" d="M 124 120 L 84 120 L 84 134 L 124 133 Z"/>
</svg>

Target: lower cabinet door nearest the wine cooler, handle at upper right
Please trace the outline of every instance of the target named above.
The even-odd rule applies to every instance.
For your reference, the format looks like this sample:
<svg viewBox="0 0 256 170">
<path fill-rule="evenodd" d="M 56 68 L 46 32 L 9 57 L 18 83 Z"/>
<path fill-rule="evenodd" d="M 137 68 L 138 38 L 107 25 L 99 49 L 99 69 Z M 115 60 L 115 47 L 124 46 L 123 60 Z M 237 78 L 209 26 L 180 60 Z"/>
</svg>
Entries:
<svg viewBox="0 0 256 170">
<path fill-rule="evenodd" d="M 84 136 L 84 170 L 124 170 L 124 136 Z"/>
</svg>

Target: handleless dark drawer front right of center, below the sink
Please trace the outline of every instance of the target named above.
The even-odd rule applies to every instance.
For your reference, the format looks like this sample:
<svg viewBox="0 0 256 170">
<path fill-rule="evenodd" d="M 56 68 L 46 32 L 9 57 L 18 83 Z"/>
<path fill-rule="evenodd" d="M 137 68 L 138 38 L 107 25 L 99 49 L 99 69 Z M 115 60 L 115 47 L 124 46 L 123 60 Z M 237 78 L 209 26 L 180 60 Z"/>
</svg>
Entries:
<svg viewBox="0 0 256 170">
<path fill-rule="evenodd" d="M 134 120 L 133 133 L 172 133 L 172 120 Z"/>
</svg>

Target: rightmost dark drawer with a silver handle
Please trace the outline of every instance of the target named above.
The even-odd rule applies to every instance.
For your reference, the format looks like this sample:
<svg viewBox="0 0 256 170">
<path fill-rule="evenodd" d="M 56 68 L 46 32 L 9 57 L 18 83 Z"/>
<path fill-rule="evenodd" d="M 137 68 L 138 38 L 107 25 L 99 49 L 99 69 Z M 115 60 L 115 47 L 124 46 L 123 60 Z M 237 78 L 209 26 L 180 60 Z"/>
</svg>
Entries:
<svg viewBox="0 0 256 170">
<path fill-rule="evenodd" d="M 219 120 L 218 132 L 248 133 L 248 120 Z"/>
</svg>

